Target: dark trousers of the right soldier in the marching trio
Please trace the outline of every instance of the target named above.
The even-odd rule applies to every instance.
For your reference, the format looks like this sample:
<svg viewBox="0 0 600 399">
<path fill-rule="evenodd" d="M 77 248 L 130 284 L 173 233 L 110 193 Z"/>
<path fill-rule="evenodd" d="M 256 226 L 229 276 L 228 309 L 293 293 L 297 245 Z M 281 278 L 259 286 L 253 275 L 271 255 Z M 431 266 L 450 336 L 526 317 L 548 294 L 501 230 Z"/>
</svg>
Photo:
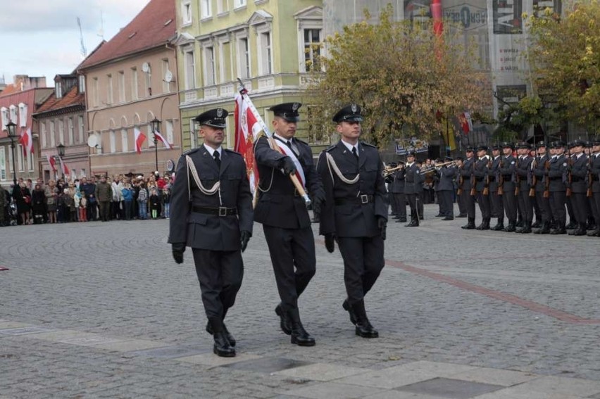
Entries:
<svg viewBox="0 0 600 399">
<path fill-rule="evenodd" d="M 344 260 L 348 301 L 351 304 L 360 302 L 373 287 L 385 265 L 383 239 L 381 236 L 338 237 L 337 244 Z"/>
</svg>

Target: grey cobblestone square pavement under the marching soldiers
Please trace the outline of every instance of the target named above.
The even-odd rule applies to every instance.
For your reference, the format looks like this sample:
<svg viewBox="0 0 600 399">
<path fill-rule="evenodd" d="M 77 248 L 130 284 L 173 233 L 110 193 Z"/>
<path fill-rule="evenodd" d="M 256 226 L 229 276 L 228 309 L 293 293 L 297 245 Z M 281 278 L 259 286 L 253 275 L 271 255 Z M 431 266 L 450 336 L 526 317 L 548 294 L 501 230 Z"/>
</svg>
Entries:
<svg viewBox="0 0 600 399">
<path fill-rule="evenodd" d="M 167 220 L 0 228 L 0 398 L 600 398 L 600 241 L 389 223 L 387 266 L 354 335 L 339 252 L 317 243 L 299 300 L 317 345 L 278 328 L 259 224 L 212 354 L 192 255 Z M 313 225 L 315 232 L 317 226 Z"/>
</svg>

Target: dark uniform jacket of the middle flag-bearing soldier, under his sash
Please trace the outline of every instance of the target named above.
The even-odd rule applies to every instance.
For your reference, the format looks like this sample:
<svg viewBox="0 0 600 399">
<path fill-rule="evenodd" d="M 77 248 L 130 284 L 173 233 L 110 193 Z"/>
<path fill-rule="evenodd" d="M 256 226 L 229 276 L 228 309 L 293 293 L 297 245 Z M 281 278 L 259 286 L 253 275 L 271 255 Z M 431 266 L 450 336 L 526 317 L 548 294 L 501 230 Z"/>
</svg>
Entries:
<svg viewBox="0 0 600 399">
<path fill-rule="evenodd" d="M 300 153 L 297 158 L 304 170 L 304 177 L 306 177 L 306 191 L 309 195 L 316 195 L 318 191 L 323 192 L 323 185 L 313 163 L 311 147 L 296 138 L 293 141 Z M 277 144 L 279 146 L 286 145 L 280 140 L 277 140 Z M 261 137 L 256 141 L 254 157 L 261 179 L 258 184 L 259 196 L 254 209 L 254 220 L 282 229 L 309 227 L 311 218 L 308 215 L 304 199 L 296 193 L 292 180 L 283 175 L 278 168 L 280 160 L 285 157 L 285 154 L 271 149 L 267 138 Z"/>
</svg>

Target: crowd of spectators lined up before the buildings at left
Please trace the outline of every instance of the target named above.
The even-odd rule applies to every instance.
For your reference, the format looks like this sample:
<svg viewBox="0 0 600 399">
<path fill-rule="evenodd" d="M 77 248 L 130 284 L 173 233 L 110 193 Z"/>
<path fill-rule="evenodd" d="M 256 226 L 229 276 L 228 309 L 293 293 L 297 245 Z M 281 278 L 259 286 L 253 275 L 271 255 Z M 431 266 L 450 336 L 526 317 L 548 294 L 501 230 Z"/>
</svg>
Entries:
<svg viewBox="0 0 600 399">
<path fill-rule="evenodd" d="M 18 179 L 0 187 L 0 226 L 169 217 L 170 175 Z"/>
</svg>

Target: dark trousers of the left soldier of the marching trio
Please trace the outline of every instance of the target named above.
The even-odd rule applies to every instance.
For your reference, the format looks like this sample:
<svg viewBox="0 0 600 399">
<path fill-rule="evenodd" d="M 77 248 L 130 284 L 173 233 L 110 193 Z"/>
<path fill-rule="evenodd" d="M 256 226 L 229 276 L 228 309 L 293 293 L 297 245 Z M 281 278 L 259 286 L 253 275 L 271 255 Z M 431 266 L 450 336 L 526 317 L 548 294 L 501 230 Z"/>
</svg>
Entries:
<svg viewBox="0 0 600 399">
<path fill-rule="evenodd" d="M 235 303 L 244 277 L 242 251 L 192 248 L 206 317 L 224 319 Z"/>
</svg>

